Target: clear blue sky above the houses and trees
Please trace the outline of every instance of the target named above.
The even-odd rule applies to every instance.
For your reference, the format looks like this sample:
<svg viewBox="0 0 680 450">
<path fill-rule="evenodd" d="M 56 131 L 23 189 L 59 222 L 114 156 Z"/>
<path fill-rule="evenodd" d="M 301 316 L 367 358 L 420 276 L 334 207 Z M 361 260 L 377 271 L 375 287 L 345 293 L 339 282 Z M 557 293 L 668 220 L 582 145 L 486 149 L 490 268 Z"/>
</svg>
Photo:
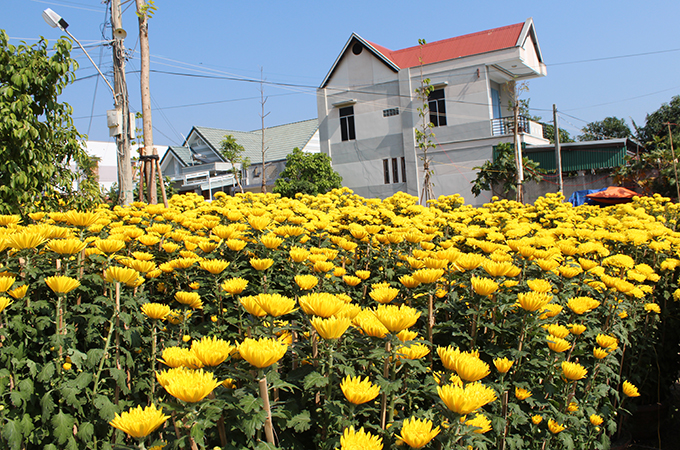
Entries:
<svg viewBox="0 0 680 450">
<path fill-rule="evenodd" d="M 132 50 L 130 104 L 139 111 L 134 3 L 124 4 L 123 27 L 125 45 Z M 607 116 L 643 125 L 646 114 L 680 95 L 677 0 L 156 0 L 156 6 L 149 30 L 151 69 L 182 74 L 151 74 L 154 143 L 159 146 L 181 145 L 194 125 L 259 129 L 260 85 L 252 80 L 260 79 L 260 69 L 267 82 L 266 126 L 316 117 L 315 87 L 352 32 L 397 50 L 421 38 L 432 42 L 532 17 L 548 75 L 532 80 L 524 98 L 530 99 L 532 113 L 546 121 L 552 120 L 556 104 L 560 126 L 572 135 Z M 110 75 L 111 51 L 101 44 L 110 39 L 110 22 L 99 0 L 2 0 L 0 29 L 14 45 L 34 43 L 40 36 L 53 42 L 63 33 L 44 22 L 45 8 L 70 24 L 69 31 Z M 72 105 L 81 133 L 112 140 L 105 117 L 113 107 L 111 92 L 97 81 L 79 49 L 73 55 L 81 80 L 67 87 L 61 99 Z"/>
</svg>

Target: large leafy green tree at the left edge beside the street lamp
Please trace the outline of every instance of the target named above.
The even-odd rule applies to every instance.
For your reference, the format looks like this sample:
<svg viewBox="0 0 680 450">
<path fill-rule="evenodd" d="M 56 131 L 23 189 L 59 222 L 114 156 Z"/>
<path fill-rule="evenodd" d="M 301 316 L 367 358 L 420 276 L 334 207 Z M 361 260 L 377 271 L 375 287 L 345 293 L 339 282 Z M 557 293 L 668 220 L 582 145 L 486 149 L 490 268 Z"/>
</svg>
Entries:
<svg viewBox="0 0 680 450">
<path fill-rule="evenodd" d="M 57 97 L 75 79 L 71 43 L 9 45 L 0 30 L 0 213 L 88 208 L 100 200 L 72 108 Z M 73 167 L 72 167 L 73 166 Z"/>
</svg>

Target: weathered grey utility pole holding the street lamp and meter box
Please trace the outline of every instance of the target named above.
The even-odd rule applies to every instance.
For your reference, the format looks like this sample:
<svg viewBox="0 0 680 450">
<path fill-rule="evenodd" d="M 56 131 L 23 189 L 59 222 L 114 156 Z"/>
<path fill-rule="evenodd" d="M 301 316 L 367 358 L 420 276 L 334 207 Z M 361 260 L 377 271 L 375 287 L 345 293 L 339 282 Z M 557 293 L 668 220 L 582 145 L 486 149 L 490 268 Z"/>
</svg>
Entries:
<svg viewBox="0 0 680 450">
<path fill-rule="evenodd" d="M 130 163 L 130 105 L 125 80 L 125 45 L 123 39 L 120 0 L 111 0 L 111 26 L 113 27 L 113 85 L 115 106 L 120 117 L 121 134 L 116 136 L 118 152 L 119 203 L 132 203 L 132 165 Z"/>
</svg>

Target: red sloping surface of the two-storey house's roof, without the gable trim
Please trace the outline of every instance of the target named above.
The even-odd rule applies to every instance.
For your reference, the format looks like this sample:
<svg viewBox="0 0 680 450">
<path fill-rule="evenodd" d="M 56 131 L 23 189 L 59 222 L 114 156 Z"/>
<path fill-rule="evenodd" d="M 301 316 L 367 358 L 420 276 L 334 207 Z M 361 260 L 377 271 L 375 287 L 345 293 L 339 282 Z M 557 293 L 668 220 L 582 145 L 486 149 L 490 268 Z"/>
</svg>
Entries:
<svg viewBox="0 0 680 450">
<path fill-rule="evenodd" d="M 442 41 L 428 42 L 422 50 L 423 64 L 515 47 L 523 27 L 524 22 Z M 392 51 L 377 44 L 371 43 L 371 45 L 401 69 L 420 64 L 418 60 L 421 54 L 420 46 Z"/>
</svg>

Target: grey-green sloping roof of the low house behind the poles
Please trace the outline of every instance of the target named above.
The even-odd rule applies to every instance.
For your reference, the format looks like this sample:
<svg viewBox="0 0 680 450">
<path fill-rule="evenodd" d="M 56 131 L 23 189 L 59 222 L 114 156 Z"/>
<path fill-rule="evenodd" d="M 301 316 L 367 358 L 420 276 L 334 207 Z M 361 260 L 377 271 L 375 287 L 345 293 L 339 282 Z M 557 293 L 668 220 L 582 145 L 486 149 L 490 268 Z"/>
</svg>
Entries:
<svg viewBox="0 0 680 450">
<path fill-rule="evenodd" d="M 268 147 L 265 154 L 267 162 L 286 159 L 286 156 L 291 153 L 295 147 L 302 150 L 318 128 L 318 119 L 266 128 L 264 137 L 265 147 Z M 207 144 L 216 152 L 219 152 L 220 142 L 224 140 L 224 136 L 231 134 L 236 138 L 236 142 L 243 146 L 245 150 L 244 156 L 249 157 L 254 164 L 262 162 L 261 130 L 236 131 L 207 127 L 194 127 L 194 129 L 203 136 L 207 141 Z"/>
</svg>

